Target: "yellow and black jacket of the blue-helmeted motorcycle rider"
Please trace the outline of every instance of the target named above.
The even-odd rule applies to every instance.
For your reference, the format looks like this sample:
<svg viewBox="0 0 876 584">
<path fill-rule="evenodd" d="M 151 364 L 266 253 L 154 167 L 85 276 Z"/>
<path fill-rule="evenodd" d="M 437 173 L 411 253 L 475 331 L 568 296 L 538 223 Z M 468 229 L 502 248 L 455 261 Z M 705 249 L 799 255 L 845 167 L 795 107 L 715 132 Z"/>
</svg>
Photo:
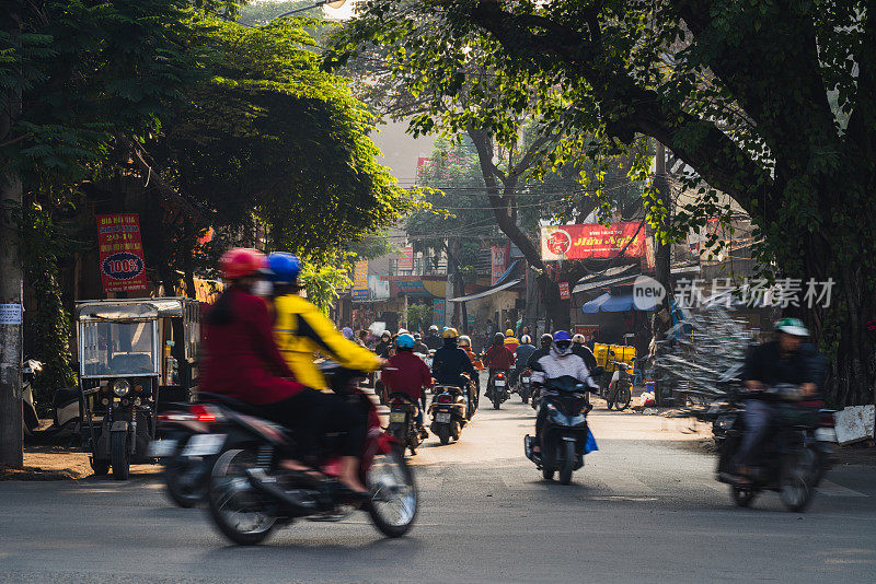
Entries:
<svg viewBox="0 0 876 584">
<path fill-rule="evenodd" d="M 345 339 L 316 306 L 301 296 L 278 296 L 274 300 L 274 308 L 277 313 L 274 325 L 277 347 L 299 383 L 314 389 L 328 387 L 313 363 L 313 353 L 318 351 L 347 369 L 374 371 L 380 366 L 380 358 Z"/>
</svg>

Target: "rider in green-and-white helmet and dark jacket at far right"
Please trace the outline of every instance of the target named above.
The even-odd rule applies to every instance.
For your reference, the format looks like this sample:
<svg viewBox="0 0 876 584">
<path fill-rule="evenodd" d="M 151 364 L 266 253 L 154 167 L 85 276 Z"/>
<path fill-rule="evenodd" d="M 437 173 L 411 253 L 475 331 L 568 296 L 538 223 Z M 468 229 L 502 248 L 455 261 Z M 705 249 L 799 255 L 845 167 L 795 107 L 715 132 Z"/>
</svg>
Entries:
<svg viewBox="0 0 876 584">
<path fill-rule="evenodd" d="M 799 387 L 800 398 L 814 400 L 819 397 L 823 358 L 814 346 L 804 342 L 808 335 L 798 318 L 782 318 L 775 324 L 775 339 L 753 347 L 746 355 L 741 375 L 746 425 L 736 457 L 734 478 L 737 483 L 751 482 L 751 467 L 777 412 L 774 398 L 761 390 L 779 384 L 793 384 Z"/>
</svg>

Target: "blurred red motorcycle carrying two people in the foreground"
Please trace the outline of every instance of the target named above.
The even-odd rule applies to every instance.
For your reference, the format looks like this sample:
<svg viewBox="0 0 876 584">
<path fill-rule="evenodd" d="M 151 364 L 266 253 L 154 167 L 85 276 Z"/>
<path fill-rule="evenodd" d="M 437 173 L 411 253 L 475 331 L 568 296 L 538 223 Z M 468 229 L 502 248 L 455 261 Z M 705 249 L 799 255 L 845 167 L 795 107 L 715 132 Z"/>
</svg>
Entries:
<svg viewBox="0 0 876 584">
<path fill-rule="evenodd" d="M 359 478 L 370 497 L 358 509 L 368 513 L 383 535 L 401 537 L 413 526 L 418 506 L 413 472 L 395 441 L 381 430 L 373 401 L 358 387 L 362 374 L 327 366 L 323 374 L 332 389 L 354 402 L 367 420 Z M 245 404 L 223 397 L 217 404 L 226 416 L 227 434 L 216 448 L 207 503 L 212 522 L 228 539 L 256 545 L 275 527 L 296 519 L 339 521 L 357 510 L 337 480 L 280 468 L 288 453 L 297 449 L 292 432 Z M 339 459 L 327 457 L 320 467 L 327 477 L 336 477 Z"/>
</svg>

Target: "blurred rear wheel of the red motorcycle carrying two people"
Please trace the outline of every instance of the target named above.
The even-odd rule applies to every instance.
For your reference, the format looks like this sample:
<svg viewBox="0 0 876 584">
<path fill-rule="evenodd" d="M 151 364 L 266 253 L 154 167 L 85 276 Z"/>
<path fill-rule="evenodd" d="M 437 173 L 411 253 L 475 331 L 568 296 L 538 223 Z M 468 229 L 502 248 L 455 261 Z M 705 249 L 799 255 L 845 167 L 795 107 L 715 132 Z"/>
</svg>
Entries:
<svg viewBox="0 0 876 584">
<path fill-rule="evenodd" d="M 222 535 L 239 546 L 261 544 L 277 523 L 246 477 L 246 469 L 255 466 L 255 460 L 252 451 L 223 452 L 212 467 L 207 489 L 210 517 Z"/>
</svg>

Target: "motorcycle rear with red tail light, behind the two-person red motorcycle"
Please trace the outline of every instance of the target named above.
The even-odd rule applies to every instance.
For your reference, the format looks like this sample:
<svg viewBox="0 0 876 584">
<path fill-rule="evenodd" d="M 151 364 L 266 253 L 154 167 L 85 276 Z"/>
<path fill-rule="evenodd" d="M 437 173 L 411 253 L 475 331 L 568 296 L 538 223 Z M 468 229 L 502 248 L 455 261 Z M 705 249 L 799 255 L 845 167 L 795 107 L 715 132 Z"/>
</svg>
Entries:
<svg viewBox="0 0 876 584">
<path fill-rule="evenodd" d="M 201 393 L 203 398 L 216 398 Z M 204 501 L 210 469 L 216 462 L 206 455 L 217 440 L 224 420 L 218 408 L 206 404 L 178 404 L 159 413 L 159 439 L 149 446 L 149 455 L 164 466 L 168 497 L 177 506 L 188 509 Z"/>
</svg>

